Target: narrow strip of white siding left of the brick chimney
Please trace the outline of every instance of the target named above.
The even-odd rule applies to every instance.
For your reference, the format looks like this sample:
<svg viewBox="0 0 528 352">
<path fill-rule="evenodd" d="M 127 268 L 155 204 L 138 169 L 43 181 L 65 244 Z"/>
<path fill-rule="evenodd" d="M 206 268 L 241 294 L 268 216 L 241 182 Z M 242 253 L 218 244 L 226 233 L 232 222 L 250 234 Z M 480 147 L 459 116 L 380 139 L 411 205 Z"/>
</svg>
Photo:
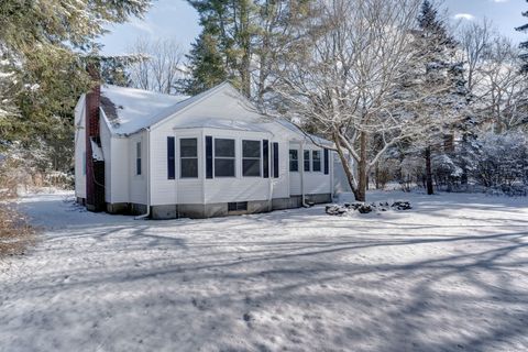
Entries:
<svg viewBox="0 0 528 352">
<path fill-rule="evenodd" d="M 85 150 L 86 150 L 86 112 L 82 95 L 75 108 L 75 196 L 86 198 Z"/>
</svg>

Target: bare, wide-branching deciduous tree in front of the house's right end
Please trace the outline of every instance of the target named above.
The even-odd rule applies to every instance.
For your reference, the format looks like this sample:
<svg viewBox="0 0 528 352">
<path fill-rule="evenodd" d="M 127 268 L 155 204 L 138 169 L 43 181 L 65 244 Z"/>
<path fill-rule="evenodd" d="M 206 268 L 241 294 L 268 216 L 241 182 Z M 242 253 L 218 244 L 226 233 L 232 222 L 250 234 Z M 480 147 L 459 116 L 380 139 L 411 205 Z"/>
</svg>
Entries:
<svg viewBox="0 0 528 352">
<path fill-rule="evenodd" d="M 395 143 L 429 135 L 440 119 L 417 113 L 424 96 L 395 95 L 419 53 L 413 30 L 419 0 L 322 1 L 299 29 L 290 59 L 276 67 L 284 113 L 334 142 L 358 200 L 367 173 Z M 438 87 L 441 89 L 440 87 Z M 435 127 L 437 125 L 437 127 Z M 371 148 L 373 138 L 378 142 Z M 349 161 L 352 156 L 354 165 Z"/>
</svg>

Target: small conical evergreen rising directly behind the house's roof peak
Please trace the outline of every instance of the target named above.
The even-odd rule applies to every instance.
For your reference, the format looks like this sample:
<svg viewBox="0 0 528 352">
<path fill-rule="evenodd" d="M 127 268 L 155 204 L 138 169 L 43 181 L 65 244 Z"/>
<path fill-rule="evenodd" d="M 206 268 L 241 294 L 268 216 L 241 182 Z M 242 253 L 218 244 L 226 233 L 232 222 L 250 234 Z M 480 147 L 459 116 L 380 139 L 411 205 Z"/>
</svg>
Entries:
<svg viewBox="0 0 528 352">
<path fill-rule="evenodd" d="M 200 33 L 187 55 L 190 78 L 182 81 L 180 90 L 197 95 L 228 79 L 226 61 L 218 51 L 216 37 L 208 32 Z"/>
</svg>

